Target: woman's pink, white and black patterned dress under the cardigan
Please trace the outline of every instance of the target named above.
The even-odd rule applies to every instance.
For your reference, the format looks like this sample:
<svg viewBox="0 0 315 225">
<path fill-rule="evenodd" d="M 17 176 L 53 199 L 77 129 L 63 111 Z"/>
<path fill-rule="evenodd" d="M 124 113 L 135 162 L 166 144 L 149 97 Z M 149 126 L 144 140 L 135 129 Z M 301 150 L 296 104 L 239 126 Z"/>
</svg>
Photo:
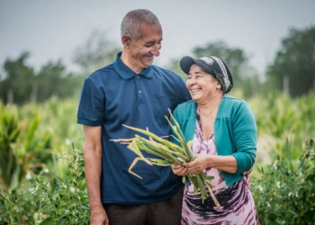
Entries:
<svg viewBox="0 0 315 225">
<path fill-rule="evenodd" d="M 197 109 L 196 130 L 193 137 L 193 154 L 217 155 L 214 135 L 203 141 L 199 111 Z M 201 193 L 193 193 L 193 184 L 184 185 L 182 225 L 259 225 L 253 196 L 247 186 L 246 177 L 229 186 L 225 183 L 220 169 L 206 168 L 207 175 L 213 175 L 212 192 L 220 207 L 211 197 L 202 203 Z"/>
</svg>

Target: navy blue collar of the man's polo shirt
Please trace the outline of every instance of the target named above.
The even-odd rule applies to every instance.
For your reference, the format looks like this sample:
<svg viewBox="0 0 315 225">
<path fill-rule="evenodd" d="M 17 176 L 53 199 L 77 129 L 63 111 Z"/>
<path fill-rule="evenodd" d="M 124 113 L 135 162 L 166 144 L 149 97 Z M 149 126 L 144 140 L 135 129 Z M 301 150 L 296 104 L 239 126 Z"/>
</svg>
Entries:
<svg viewBox="0 0 315 225">
<path fill-rule="evenodd" d="M 127 67 L 122 61 L 121 61 L 121 51 L 117 53 L 116 60 L 112 63 L 113 67 L 115 68 L 116 72 L 121 76 L 122 79 L 127 80 L 131 77 L 137 76 L 138 74 L 135 73 L 130 69 L 130 67 Z M 153 67 L 149 66 L 144 68 L 141 72 L 139 72 L 139 75 L 152 78 L 153 76 Z"/>
</svg>

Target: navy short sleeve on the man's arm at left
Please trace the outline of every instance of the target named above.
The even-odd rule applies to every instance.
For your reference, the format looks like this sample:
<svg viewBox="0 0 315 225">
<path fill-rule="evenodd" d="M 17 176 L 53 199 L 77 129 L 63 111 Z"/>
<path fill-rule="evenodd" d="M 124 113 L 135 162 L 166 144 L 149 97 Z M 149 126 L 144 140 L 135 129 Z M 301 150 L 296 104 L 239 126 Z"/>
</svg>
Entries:
<svg viewBox="0 0 315 225">
<path fill-rule="evenodd" d="M 103 94 L 89 79 L 85 79 L 77 109 L 77 123 L 92 127 L 102 126 L 104 103 Z"/>
</svg>

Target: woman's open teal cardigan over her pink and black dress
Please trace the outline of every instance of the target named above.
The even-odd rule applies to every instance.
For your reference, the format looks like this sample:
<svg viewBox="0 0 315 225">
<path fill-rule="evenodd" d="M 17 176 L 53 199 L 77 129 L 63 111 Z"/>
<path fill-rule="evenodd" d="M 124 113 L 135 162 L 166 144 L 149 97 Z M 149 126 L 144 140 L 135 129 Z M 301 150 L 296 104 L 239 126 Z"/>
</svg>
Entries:
<svg viewBox="0 0 315 225">
<path fill-rule="evenodd" d="M 191 100 L 179 104 L 174 111 L 186 141 L 193 139 L 196 129 L 196 107 Z M 256 157 L 257 125 L 245 101 L 223 96 L 214 121 L 214 140 L 219 156 L 233 156 L 238 162 L 235 174 L 222 171 L 225 182 L 233 184 L 253 167 Z"/>
</svg>

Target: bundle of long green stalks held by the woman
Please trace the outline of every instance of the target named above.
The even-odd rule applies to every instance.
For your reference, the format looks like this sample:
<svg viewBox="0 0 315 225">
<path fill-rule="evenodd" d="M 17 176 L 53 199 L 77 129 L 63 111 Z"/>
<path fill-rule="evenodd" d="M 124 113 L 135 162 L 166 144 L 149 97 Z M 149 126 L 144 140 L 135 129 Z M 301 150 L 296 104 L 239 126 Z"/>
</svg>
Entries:
<svg viewBox="0 0 315 225">
<path fill-rule="evenodd" d="M 132 175 L 136 175 L 142 179 L 141 176 L 131 171 L 133 166 L 135 166 L 139 160 L 142 160 L 151 166 L 152 165 L 157 165 L 157 166 L 183 165 L 184 162 L 193 161 L 193 153 L 191 151 L 192 140 L 186 143 L 184 139 L 184 134 L 182 130 L 180 129 L 178 122 L 175 121 L 175 118 L 171 112 L 170 112 L 170 115 L 175 125 L 173 125 L 168 120 L 167 117 L 166 117 L 166 120 L 168 121 L 172 130 L 174 131 L 175 136 L 173 136 L 173 138 L 179 142 L 180 146 L 166 139 L 157 137 L 157 135 L 155 135 L 154 133 L 149 132 L 148 129 L 141 130 L 141 129 L 126 126 L 126 125 L 123 125 L 123 126 L 129 128 L 130 130 L 135 130 L 135 131 L 138 131 L 139 133 L 147 135 L 148 139 L 144 139 L 140 137 L 139 135 L 136 135 L 135 138 L 133 139 L 112 139 L 112 141 L 121 142 L 121 144 L 128 144 L 128 148 L 130 148 L 130 150 L 133 151 L 138 156 L 134 159 L 133 163 L 130 165 L 130 168 L 128 170 Z M 153 154 L 161 158 L 144 157 L 141 151 L 146 151 L 149 154 Z M 206 191 L 206 187 L 207 187 L 213 202 L 215 203 L 217 207 L 220 207 L 219 202 L 217 201 L 214 194 L 211 192 L 212 184 L 209 181 L 214 178 L 213 176 L 206 175 L 204 172 L 202 172 L 201 174 L 198 174 L 198 175 L 188 174 L 187 178 L 193 184 L 194 193 L 198 193 L 198 190 L 200 190 L 200 193 L 202 194 L 202 202 L 207 197 L 209 197 L 209 194 Z M 183 178 L 183 182 L 185 182 L 185 178 Z"/>
</svg>

